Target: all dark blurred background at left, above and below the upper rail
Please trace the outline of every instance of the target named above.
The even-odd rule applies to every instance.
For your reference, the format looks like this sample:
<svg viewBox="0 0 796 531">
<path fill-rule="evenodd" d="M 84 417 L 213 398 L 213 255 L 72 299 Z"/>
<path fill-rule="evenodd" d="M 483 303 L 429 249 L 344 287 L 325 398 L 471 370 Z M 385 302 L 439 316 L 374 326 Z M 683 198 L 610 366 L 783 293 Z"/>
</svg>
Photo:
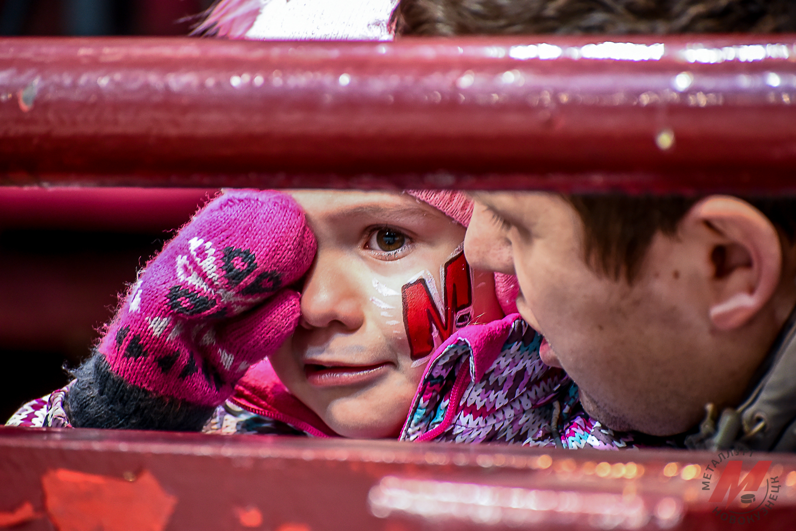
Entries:
<svg viewBox="0 0 796 531">
<path fill-rule="evenodd" d="M 0 36 L 185 35 L 213 0 L 0 0 Z M 204 189 L 0 186 L 0 424 L 65 385 Z"/>
</svg>

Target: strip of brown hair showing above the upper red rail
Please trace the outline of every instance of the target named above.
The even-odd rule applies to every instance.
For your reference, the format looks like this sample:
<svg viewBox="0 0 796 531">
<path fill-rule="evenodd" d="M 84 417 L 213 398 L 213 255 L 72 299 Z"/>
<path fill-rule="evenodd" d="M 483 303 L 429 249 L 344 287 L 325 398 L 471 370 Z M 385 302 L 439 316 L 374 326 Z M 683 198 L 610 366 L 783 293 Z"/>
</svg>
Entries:
<svg viewBox="0 0 796 531">
<path fill-rule="evenodd" d="M 794 0 L 401 0 L 400 35 L 796 31 Z"/>
</svg>

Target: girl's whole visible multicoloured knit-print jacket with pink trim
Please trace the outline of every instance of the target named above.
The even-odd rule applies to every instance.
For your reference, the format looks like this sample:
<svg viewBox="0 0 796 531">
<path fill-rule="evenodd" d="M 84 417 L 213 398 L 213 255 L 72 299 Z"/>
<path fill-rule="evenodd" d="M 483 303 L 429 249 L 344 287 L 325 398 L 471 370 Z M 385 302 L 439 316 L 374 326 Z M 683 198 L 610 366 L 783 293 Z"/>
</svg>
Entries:
<svg viewBox="0 0 796 531">
<path fill-rule="evenodd" d="M 518 314 L 458 330 L 429 361 L 400 440 L 607 450 L 666 444 L 592 420 L 566 373 L 542 363 L 541 340 Z M 69 385 L 25 404 L 8 424 L 69 427 L 61 406 L 68 392 Z M 337 436 L 291 395 L 268 361 L 249 369 L 204 431 Z"/>
</svg>

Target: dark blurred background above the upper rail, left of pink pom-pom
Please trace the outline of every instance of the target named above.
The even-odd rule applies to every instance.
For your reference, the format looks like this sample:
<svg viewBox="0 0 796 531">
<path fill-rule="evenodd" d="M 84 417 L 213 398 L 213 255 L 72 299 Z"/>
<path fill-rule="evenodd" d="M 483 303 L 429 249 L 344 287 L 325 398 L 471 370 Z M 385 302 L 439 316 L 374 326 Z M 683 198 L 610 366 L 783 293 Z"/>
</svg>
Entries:
<svg viewBox="0 0 796 531">
<path fill-rule="evenodd" d="M 185 35 L 213 0 L 0 0 L 0 35 Z"/>
</svg>

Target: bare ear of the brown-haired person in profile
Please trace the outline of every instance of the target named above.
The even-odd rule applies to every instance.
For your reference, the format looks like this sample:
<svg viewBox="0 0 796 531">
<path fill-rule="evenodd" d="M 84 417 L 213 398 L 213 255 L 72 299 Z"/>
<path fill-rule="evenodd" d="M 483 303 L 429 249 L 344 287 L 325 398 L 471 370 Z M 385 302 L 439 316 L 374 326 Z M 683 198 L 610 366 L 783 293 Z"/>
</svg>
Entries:
<svg viewBox="0 0 796 531">
<path fill-rule="evenodd" d="M 712 278 L 710 319 L 719 330 L 743 326 L 774 295 L 782 248 L 771 221 L 737 197 L 710 196 L 693 205 L 684 222 L 700 228 Z"/>
</svg>

